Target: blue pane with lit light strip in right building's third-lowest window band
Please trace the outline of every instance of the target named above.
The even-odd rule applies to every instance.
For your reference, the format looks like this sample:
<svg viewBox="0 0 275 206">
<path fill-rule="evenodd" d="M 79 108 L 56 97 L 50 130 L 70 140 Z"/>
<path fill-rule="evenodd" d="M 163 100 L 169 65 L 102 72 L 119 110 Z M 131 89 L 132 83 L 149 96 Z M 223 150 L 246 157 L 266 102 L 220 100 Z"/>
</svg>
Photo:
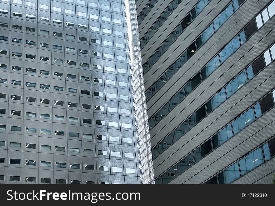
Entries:
<svg viewBox="0 0 275 206">
<path fill-rule="evenodd" d="M 227 98 L 229 98 L 234 92 L 247 83 L 246 71 L 244 70 L 236 78 L 234 78 L 229 84 L 226 85 L 225 90 Z"/>
</svg>

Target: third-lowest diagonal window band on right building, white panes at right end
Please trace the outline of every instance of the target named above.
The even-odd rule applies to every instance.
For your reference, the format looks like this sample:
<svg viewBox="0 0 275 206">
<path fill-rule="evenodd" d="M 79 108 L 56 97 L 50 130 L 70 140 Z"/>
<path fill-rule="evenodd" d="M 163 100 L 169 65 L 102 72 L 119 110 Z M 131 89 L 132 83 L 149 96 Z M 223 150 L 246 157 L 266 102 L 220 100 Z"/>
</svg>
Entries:
<svg viewBox="0 0 275 206">
<path fill-rule="evenodd" d="M 152 148 L 153 159 L 158 157 L 163 151 L 175 143 L 191 128 L 193 128 L 204 117 L 211 113 L 214 109 L 220 106 L 226 99 L 228 99 L 233 93 L 239 90 L 244 84 L 250 81 L 255 75 L 257 75 L 263 68 L 272 62 L 270 51 L 275 54 L 275 45 L 260 55 L 252 64 L 245 68 L 235 78 L 226 84 L 219 92 L 217 92 L 212 98 L 210 98 L 205 104 L 203 104 L 195 113 L 189 118 L 183 121 L 174 131 L 172 131 L 166 138 L 164 138 L 158 145 Z M 273 55 L 273 61 L 275 55 Z M 271 101 L 271 99 L 269 99 Z M 266 103 L 270 103 L 266 102 Z M 267 107 L 269 108 L 269 107 Z M 266 110 L 262 110 L 264 113 Z M 149 125 L 150 125 L 149 120 Z"/>
</svg>

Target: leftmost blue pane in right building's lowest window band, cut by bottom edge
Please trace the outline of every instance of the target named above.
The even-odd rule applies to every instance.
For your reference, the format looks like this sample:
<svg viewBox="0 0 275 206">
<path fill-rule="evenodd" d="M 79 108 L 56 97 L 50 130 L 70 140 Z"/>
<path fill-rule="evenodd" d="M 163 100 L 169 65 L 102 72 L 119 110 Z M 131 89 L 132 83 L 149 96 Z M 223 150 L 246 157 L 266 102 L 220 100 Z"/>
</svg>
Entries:
<svg viewBox="0 0 275 206">
<path fill-rule="evenodd" d="M 225 169 L 221 173 L 218 174 L 219 184 L 229 184 L 232 183 L 235 179 L 239 178 L 240 169 L 239 165 L 236 162 L 235 164 L 231 165 L 229 168 Z"/>
</svg>

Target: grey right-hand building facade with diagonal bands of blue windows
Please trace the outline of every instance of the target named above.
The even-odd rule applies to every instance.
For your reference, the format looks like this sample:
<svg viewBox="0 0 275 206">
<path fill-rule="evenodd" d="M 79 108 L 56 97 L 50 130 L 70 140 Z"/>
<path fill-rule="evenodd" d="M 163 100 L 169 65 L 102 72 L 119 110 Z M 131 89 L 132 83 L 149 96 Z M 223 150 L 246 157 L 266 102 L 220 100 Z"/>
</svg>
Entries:
<svg viewBox="0 0 275 206">
<path fill-rule="evenodd" d="M 155 183 L 272 183 L 275 1 L 136 7 Z"/>
</svg>

